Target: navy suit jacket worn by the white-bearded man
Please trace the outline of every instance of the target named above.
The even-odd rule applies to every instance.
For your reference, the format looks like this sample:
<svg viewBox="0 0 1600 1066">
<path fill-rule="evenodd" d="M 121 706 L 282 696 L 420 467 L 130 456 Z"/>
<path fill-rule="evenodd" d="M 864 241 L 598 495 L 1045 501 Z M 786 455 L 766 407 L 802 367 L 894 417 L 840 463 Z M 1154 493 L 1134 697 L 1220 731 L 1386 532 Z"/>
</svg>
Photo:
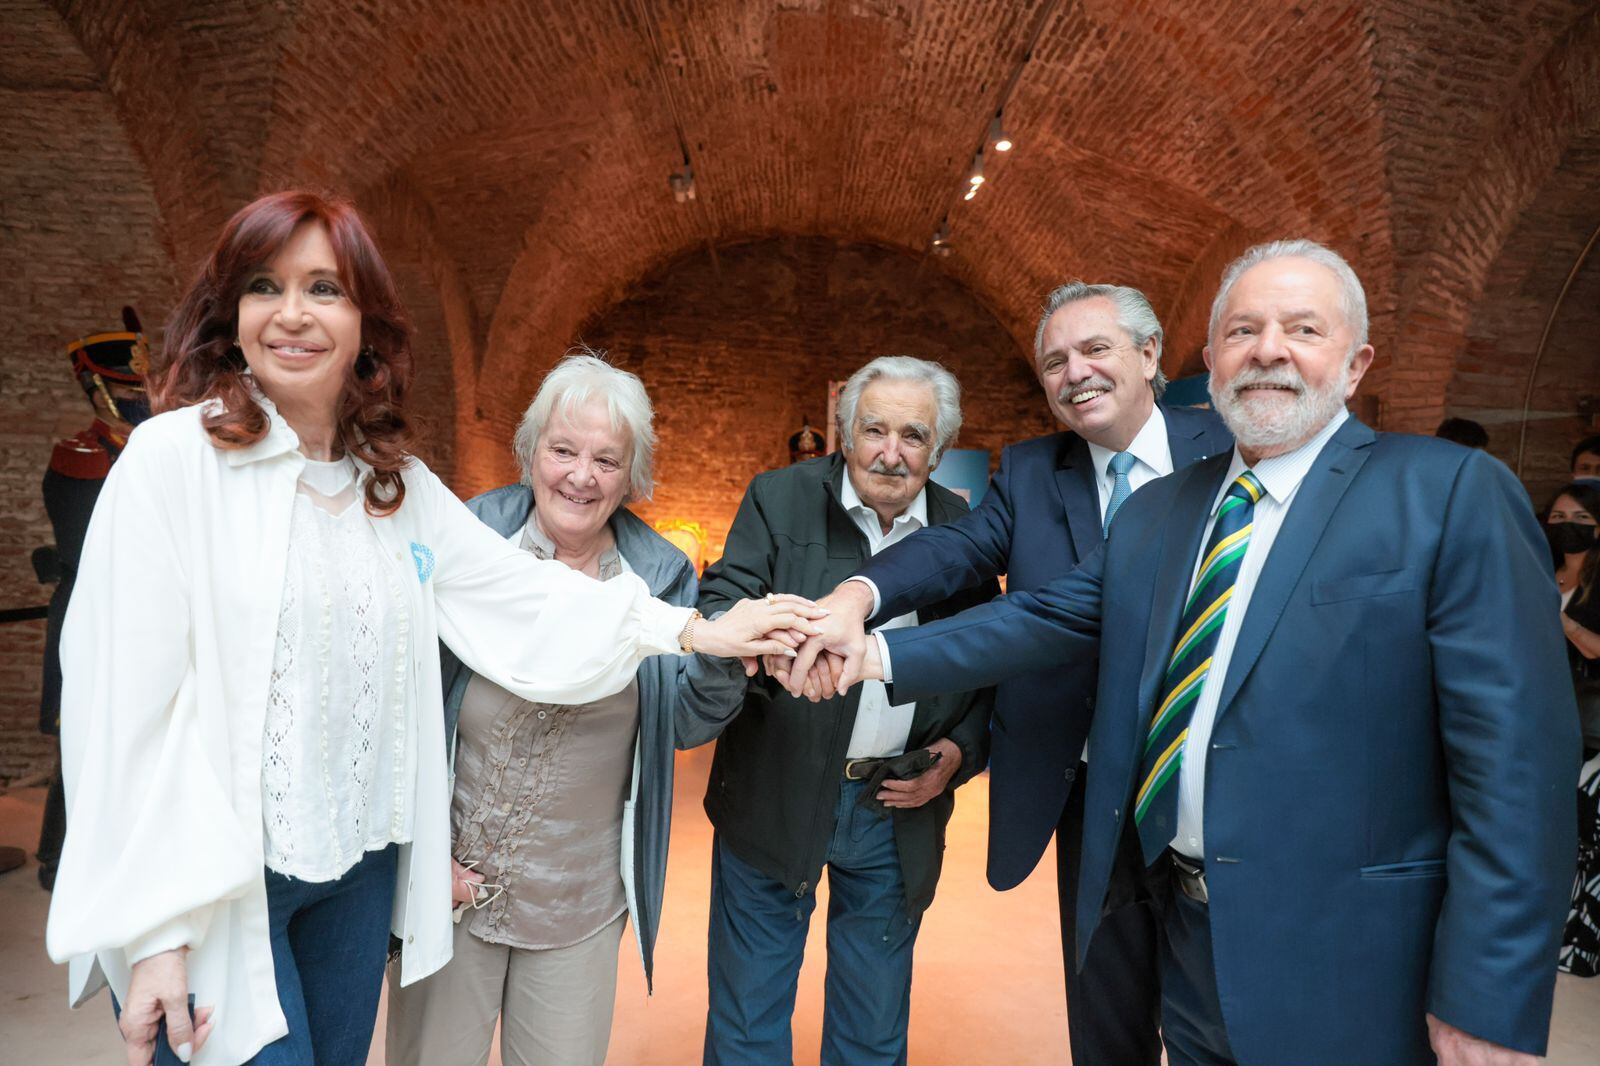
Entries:
<svg viewBox="0 0 1600 1066">
<path fill-rule="evenodd" d="M 1134 493 L 1106 551 L 1037 592 L 885 634 L 894 699 L 1099 650 L 1080 952 L 1126 871 L 1139 751 L 1227 464 Z M 1346 423 L 1274 541 L 1211 736 L 1205 860 L 1238 1060 L 1432 1063 L 1424 1012 L 1542 1055 L 1578 760 L 1522 485 L 1488 455 Z"/>
</svg>

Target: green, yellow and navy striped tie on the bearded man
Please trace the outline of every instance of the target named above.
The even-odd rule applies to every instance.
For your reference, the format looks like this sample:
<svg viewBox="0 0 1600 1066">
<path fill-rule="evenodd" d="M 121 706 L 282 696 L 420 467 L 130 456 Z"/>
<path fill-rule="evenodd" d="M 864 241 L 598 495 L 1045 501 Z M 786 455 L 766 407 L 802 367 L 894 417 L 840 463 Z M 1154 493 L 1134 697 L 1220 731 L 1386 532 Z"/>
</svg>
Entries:
<svg viewBox="0 0 1600 1066">
<path fill-rule="evenodd" d="M 1160 858 L 1178 831 L 1178 770 L 1184 763 L 1189 719 L 1206 674 L 1211 672 L 1211 653 L 1216 651 L 1227 605 L 1234 599 L 1234 583 L 1238 581 L 1238 568 L 1250 546 L 1256 503 L 1264 491 L 1250 471 L 1227 487 L 1194 589 L 1184 605 L 1184 616 L 1178 623 L 1178 643 L 1166 661 L 1162 699 L 1155 704 L 1155 715 L 1144 735 L 1139 792 L 1133 802 L 1133 820 L 1139 828 L 1146 864 Z"/>
</svg>

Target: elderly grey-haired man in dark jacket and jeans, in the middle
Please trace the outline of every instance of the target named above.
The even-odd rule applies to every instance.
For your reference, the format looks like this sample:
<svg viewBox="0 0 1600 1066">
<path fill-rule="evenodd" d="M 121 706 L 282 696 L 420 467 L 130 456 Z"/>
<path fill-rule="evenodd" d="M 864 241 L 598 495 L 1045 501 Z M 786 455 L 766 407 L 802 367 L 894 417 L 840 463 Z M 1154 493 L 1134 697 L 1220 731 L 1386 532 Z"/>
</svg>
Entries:
<svg viewBox="0 0 1600 1066">
<path fill-rule="evenodd" d="M 928 475 L 962 424 L 938 363 L 875 359 L 845 386 L 843 451 L 760 474 L 701 581 L 706 615 L 794 592 L 816 597 L 872 552 L 966 512 Z M 888 626 L 995 595 L 990 581 Z M 771 664 L 776 666 L 776 664 Z M 706 1063 L 792 1061 L 789 1020 L 816 885 L 829 871 L 822 1061 L 906 1061 L 912 944 L 933 901 L 954 791 L 984 768 L 990 693 L 894 704 L 866 685 L 822 706 L 771 672 L 717 741 Z"/>
</svg>

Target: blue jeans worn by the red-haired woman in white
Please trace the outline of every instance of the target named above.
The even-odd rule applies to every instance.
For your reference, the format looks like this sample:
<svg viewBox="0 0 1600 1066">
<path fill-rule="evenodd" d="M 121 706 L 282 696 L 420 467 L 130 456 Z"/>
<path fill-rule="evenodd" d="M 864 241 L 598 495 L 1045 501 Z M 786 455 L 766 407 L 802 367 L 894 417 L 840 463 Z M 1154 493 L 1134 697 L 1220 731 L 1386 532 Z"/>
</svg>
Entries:
<svg viewBox="0 0 1600 1066">
<path fill-rule="evenodd" d="M 389 957 L 397 856 L 398 848 L 390 844 L 368 852 L 338 880 L 325 882 L 267 871 L 272 970 L 290 1032 L 256 1052 L 245 1066 L 366 1061 Z M 154 1066 L 179 1066 L 166 1044 L 165 1023 L 155 1040 Z"/>
</svg>

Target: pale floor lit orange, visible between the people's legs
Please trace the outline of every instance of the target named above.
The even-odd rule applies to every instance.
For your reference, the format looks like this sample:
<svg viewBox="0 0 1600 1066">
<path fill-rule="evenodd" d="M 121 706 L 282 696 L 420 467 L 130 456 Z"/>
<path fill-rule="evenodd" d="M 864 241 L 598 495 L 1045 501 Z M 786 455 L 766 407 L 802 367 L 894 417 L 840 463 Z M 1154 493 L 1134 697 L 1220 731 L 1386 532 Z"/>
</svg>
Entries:
<svg viewBox="0 0 1600 1066">
<path fill-rule="evenodd" d="M 610 1063 L 698 1063 L 706 1020 L 706 900 L 710 828 L 699 808 L 709 749 L 678 759 L 677 821 L 667 906 L 656 949 L 656 994 L 645 996 L 638 949 L 622 938 Z M 0 795 L 0 844 L 32 848 L 42 789 Z M 910 1061 L 920 1066 L 1069 1063 L 1056 919 L 1054 858 L 1008 893 L 984 882 L 987 779 L 962 789 L 950 824 L 939 898 L 917 941 Z M 819 893 L 795 1008 L 795 1061 L 818 1061 L 822 1005 Z M 32 864 L 0 876 L 0 1060 L 122 1066 L 109 1002 L 70 1012 L 66 968 L 45 957 L 48 896 Z M 1552 1066 L 1600 1061 L 1600 980 L 1562 976 L 1555 991 Z M 382 1023 L 371 1066 L 382 1063 Z M 491 1058 L 499 1066 L 499 1055 Z"/>
</svg>

